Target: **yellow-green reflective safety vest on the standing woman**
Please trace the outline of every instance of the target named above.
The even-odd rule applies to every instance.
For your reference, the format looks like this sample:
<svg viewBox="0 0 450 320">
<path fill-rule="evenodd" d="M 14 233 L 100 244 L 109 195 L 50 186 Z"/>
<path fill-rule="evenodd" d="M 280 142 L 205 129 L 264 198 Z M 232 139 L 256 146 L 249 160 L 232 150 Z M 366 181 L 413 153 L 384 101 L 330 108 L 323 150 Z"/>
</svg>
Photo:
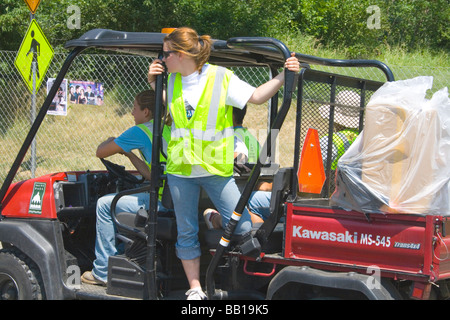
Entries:
<svg viewBox="0 0 450 320">
<path fill-rule="evenodd" d="M 232 72 L 210 65 L 206 84 L 190 120 L 186 117 L 181 75 L 171 74 L 167 101 L 172 116 L 167 172 L 189 176 L 193 165 L 211 174 L 233 174 L 234 129 L 226 94 Z"/>
</svg>

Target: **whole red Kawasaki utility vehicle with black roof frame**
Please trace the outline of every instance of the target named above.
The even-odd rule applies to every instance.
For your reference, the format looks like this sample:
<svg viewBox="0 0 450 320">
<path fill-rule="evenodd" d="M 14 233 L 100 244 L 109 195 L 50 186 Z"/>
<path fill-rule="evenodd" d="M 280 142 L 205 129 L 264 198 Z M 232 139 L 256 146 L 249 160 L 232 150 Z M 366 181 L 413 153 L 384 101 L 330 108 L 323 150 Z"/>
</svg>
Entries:
<svg viewBox="0 0 450 320">
<path fill-rule="evenodd" d="M 91 30 L 69 41 L 71 49 L 40 112 L 0 189 L 0 299 L 170 299 L 184 296 L 184 272 L 174 254 L 176 221 L 156 210 L 158 189 L 165 179 L 159 162 L 161 123 L 153 132 L 152 180 L 137 181 L 123 168 L 104 162 L 107 170 L 59 172 L 12 183 L 42 123 L 56 88 L 75 57 L 88 48 L 156 57 L 164 34 Z M 209 299 L 402 299 L 448 298 L 450 263 L 447 218 L 407 214 L 363 214 L 329 205 L 334 190 L 331 147 L 320 195 L 299 192 L 297 172 L 305 128 L 320 135 L 333 132 L 314 121 L 321 105 L 334 105 L 344 90 L 361 97 L 359 130 L 364 107 L 381 82 L 316 71 L 310 65 L 390 69 L 374 60 L 330 60 L 296 54 L 300 74 L 286 72 L 284 93 L 271 99 L 267 141 L 248 176 L 236 176 L 242 196 L 241 213 L 258 180 L 273 182 L 271 215 L 245 237 L 232 236 L 233 220 L 224 230 L 207 230 L 201 223 L 202 279 Z M 226 67 L 283 67 L 289 49 L 273 38 L 216 40 L 210 62 Z M 165 112 L 157 79 L 155 119 Z M 294 93 L 297 101 L 293 100 Z M 282 104 L 278 106 L 278 102 Z M 295 113 L 294 160 L 279 168 L 270 162 L 272 135 L 282 127 L 290 108 Z M 330 108 L 332 113 L 334 108 Z M 330 114 L 330 119 L 332 119 Z M 331 141 L 330 141 L 331 142 Z M 329 143 L 331 145 L 331 143 Z M 151 208 L 136 214 L 115 212 L 124 194 L 146 190 Z M 85 285 L 79 276 L 91 270 L 95 241 L 95 205 L 99 197 L 118 191 L 112 209 L 117 238 L 125 252 L 109 260 L 107 287 Z M 165 193 L 166 195 L 167 193 Z M 164 197 L 164 195 L 163 195 Z M 165 200 L 163 200 L 165 201 Z M 170 206 L 170 202 L 166 202 Z M 201 212 L 210 207 L 200 199 Z M 229 245 L 227 245 L 229 243 Z"/>
</svg>

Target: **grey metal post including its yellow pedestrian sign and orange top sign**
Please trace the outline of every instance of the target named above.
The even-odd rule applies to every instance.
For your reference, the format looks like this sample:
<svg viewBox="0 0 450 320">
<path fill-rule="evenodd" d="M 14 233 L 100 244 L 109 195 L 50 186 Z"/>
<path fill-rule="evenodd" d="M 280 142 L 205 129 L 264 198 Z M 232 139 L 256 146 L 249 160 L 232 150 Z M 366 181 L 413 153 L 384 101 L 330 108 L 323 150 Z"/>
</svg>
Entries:
<svg viewBox="0 0 450 320">
<path fill-rule="evenodd" d="M 34 19 L 34 14 L 40 0 L 25 0 L 31 11 L 31 22 L 25 34 L 20 49 L 17 52 L 14 65 L 19 70 L 22 79 L 31 92 L 31 115 L 33 124 L 36 118 L 36 92 L 42 84 L 50 62 L 53 59 L 53 48 L 42 32 L 41 27 Z M 36 172 L 36 140 L 31 144 L 31 176 Z"/>
</svg>

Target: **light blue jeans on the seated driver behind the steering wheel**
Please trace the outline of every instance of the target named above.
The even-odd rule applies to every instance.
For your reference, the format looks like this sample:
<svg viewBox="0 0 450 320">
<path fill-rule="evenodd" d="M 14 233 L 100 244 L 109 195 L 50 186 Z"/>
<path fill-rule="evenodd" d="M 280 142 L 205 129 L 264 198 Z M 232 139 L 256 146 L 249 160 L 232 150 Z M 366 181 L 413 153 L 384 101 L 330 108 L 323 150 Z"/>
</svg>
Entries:
<svg viewBox="0 0 450 320">
<path fill-rule="evenodd" d="M 108 194 L 97 201 L 97 234 L 93 275 L 102 281 L 108 278 L 108 258 L 122 253 L 116 243 L 116 227 L 111 216 L 111 203 L 115 194 Z M 149 209 L 149 193 L 123 196 L 116 204 L 116 212 L 136 213 L 140 208 Z M 161 205 L 158 202 L 158 207 Z"/>
</svg>

